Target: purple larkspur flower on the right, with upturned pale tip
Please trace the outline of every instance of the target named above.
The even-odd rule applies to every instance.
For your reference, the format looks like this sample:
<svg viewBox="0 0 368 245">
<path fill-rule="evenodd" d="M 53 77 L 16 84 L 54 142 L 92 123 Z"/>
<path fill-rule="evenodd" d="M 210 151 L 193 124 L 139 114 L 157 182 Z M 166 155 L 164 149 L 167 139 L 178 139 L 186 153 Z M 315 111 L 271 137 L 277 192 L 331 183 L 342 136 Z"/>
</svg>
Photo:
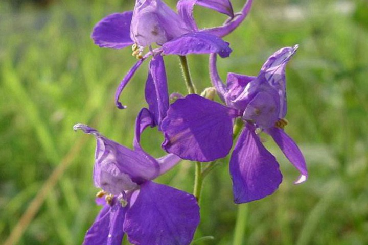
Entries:
<svg viewBox="0 0 368 245">
<path fill-rule="evenodd" d="M 245 127 L 229 166 L 235 203 L 262 199 L 282 182 L 279 164 L 261 143 L 259 130 L 271 135 L 300 171 L 295 183 L 304 182 L 308 176 L 304 157 L 283 130 L 287 124 L 285 66 L 296 49 L 297 45 L 275 52 L 257 77 L 228 74 L 226 86 L 217 73 L 216 55 L 211 55 L 211 79 L 226 106 L 196 94 L 177 100 L 162 122 L 163 148 L 183 159 L 202 162 L 225 157 L 233 144 L 233 121 L 240 117 Z"/>
</svg>

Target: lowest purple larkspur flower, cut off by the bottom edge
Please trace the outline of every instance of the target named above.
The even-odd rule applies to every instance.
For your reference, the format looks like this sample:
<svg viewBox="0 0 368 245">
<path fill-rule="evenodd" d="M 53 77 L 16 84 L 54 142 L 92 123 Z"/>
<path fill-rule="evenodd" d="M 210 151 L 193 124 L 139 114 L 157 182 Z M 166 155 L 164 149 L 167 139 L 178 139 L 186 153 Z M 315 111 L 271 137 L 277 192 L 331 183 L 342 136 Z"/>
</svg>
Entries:
<svg viewBox="0 0 368 245">
<path fill-rule="evenodd" d="M 97 199 L 103 208 L 83 244 L 121 244 L 125 233 L 137 245 L 187 245 L 193 239 L 199 224 L 195 197 L 152 182 L 180 158 L 168 154 L 155 159 L 146 153 L 140 135 L 148 126 L 155 126 L 154 118 L 143 108 L 136 120 L 134 150 L 86 125 L 74 126 L 74 130 L 81 129 L 97 139 L 93 179 L 95 186 L 103 189 Z"/>
</svg>

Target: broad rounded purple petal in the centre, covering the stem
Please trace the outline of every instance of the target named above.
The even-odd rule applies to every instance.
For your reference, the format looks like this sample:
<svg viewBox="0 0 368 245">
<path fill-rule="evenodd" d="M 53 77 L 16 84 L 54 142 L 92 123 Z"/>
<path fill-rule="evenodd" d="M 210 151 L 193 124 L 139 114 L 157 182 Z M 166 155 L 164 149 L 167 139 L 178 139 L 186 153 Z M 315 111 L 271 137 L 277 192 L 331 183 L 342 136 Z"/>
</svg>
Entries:
<svg viewBox="0 0 368 245">
<path fill-rule="evenodd" d="M 233 144 L 238 112 L 191 94 L 174 102 L 163 120 L 163 148 L 183 159 L 208 162 L 225 157 Z"/>
</svg>

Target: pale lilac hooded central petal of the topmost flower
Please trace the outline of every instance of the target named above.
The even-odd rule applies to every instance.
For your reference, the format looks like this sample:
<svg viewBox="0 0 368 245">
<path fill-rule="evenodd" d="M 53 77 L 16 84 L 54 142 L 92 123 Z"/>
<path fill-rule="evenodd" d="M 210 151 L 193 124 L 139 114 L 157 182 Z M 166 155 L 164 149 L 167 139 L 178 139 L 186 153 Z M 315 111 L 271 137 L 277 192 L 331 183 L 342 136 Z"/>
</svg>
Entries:
<svg viewBox="0 0 368 245">
<path fill-rule="evenodd" d="M 192 28 L 164 2 L 136 1 L 130 37 L 138 45 L 161 45 L 191 31 Z"/>
</svg>

